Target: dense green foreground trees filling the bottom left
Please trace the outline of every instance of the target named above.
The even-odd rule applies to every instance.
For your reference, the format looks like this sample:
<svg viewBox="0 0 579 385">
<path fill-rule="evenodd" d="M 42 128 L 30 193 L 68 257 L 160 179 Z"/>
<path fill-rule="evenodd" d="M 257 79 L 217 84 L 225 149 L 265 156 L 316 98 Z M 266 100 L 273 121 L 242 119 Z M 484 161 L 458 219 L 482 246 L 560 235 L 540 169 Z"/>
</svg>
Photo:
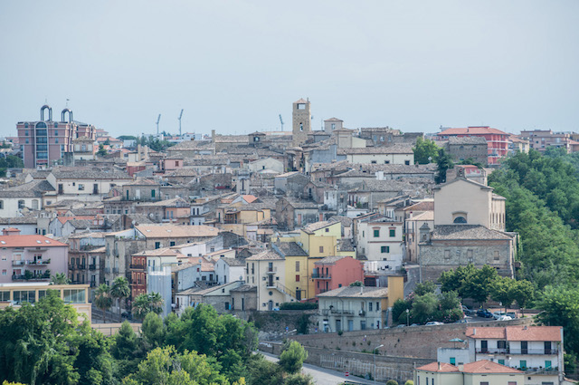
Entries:
<svg viewBox="0 0 579 385">
<path fill-rule="evenodd" d="M 113 286 L 119 286 L 116 297 L 122 298 L 124 283 Z M 110 298 L 108 287 L 102 289 L 101 295 Z M 297 342 L 282 353 L 282 364 L 265 361 L 253 354 L 257 332 L 251 323 L 208 305 L 165 320 L 147 313 L 140 336 L 128 322 L 105 337 L 78 320 L 74 308 L 52 290 L 34 305 L 0 311 L 0 380 L 30 385 L 311 383 L 289 372 L 299 371 L 306 358 Z"/>
</svg>

